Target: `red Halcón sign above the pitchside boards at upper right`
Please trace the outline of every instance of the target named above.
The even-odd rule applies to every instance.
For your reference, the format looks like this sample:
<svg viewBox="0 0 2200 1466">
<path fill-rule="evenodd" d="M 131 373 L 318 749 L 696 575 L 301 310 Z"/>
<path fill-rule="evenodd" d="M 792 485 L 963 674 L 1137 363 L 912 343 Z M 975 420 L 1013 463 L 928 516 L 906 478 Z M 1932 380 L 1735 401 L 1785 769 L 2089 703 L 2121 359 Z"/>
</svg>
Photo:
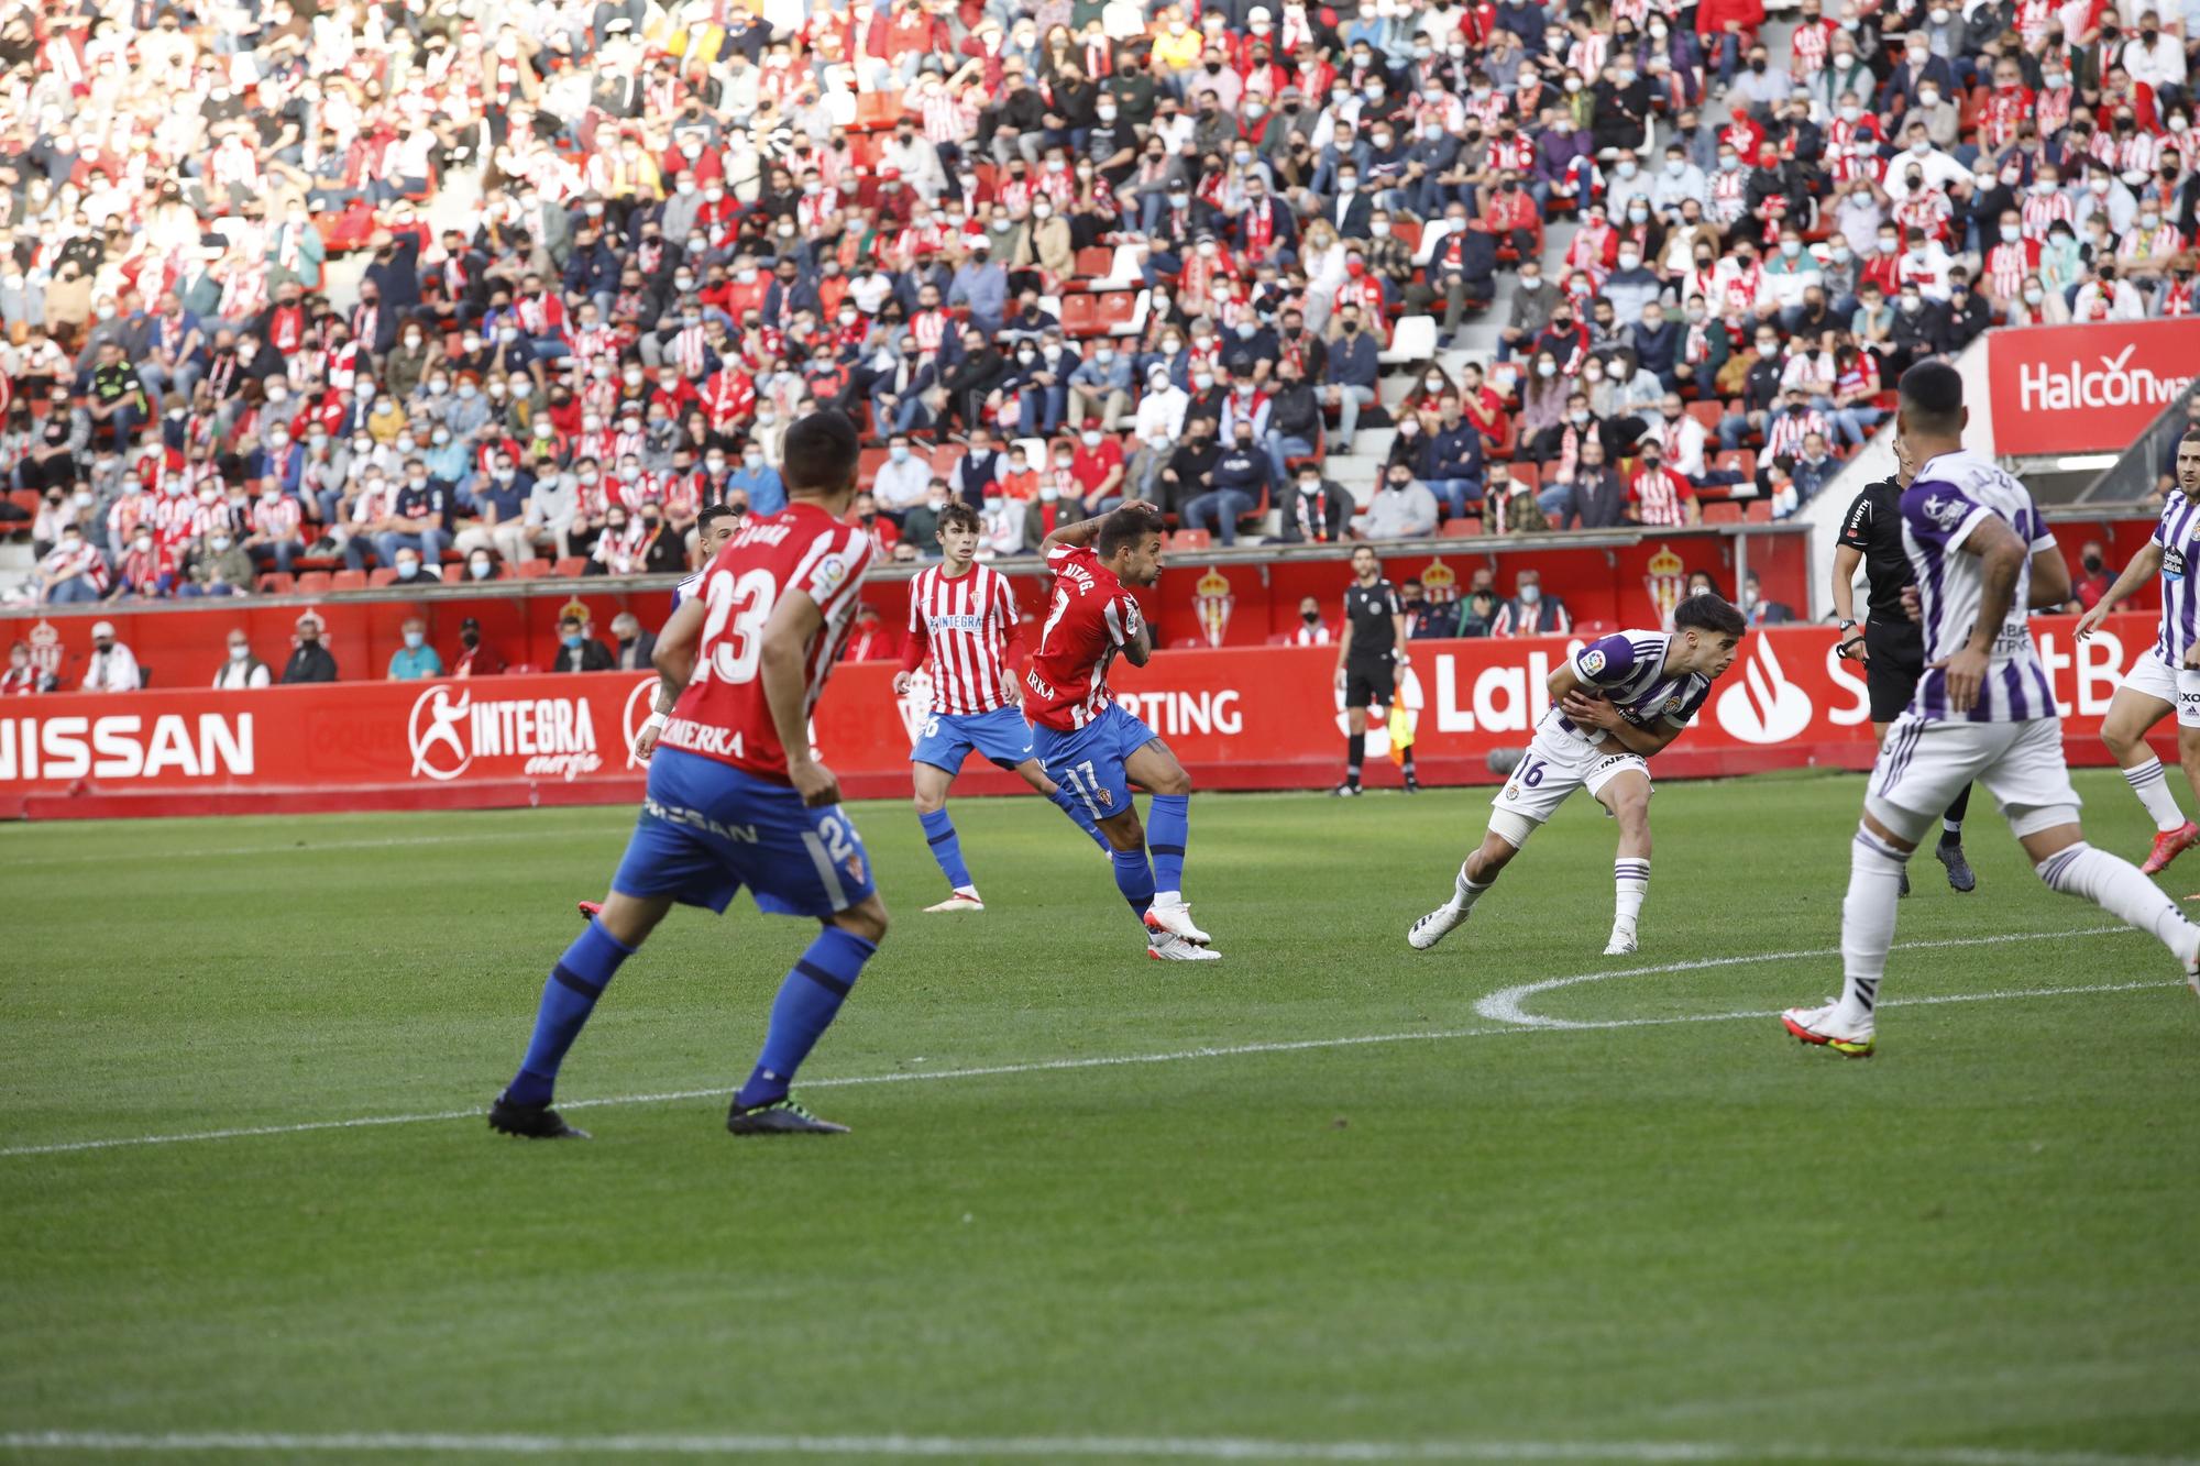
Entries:
<svg viewBox="0 0 2200 1466">
<path fill-rule="evenodd" d="M 1993 449 L 2026 458 L 2130 447 L 2196 372 L 2200 317 L 1995 330 Z"/>
</svg>

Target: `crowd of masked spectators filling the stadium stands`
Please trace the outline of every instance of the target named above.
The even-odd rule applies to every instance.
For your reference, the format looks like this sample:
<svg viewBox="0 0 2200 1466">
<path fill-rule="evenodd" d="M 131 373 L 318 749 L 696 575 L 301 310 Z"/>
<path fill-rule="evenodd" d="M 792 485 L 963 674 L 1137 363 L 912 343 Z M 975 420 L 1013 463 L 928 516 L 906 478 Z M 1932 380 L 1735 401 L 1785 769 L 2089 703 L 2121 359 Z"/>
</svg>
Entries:
<svg viewBox="0 0 2200 1466">
<path fill-rule="evenodd" d="M 18 2 L 0 464 L 57 603 L 680 568 L 818 405 L 900 559 L 1791 513 L 1910 361 L 2193 308 L 2174 2 Z"/>
</svg>

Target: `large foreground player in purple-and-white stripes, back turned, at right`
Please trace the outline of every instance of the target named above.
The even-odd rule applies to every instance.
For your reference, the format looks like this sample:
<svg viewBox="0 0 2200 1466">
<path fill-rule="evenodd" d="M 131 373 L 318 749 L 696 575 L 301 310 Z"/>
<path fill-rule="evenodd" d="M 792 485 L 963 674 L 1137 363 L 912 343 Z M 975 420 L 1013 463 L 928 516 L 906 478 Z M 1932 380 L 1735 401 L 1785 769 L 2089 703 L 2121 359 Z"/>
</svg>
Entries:
<svg viewBox="0 0 2200 1466">
<path fill-rule="evenodd" d="M 2086 843 L 2064 766 L 2055 691 L 2033 647 L 2026 608 L 2070 594 L 2070 568 L 2024 484 L 1962 447 L 1962 379 L 1945 361 L 1903 372 L 1896 453 L 1918 460 L 1903 491 L 1903 548 L 1916 570 L 1925 676 L 1888 729 L 1863 797 L 1848 900 L 1841 905 L 1841 997 L 1789 1008 L 1784 1028 L 1850 1059 L 1874 1048 L 1872 1008 L 1894 944 L 1903 865 L 1947 801 L 1984 781 L 2053 889 L 2083 896 L 2185 964 L 2200 991 L 2200 927 L 2130 861 Z"/>
</svg>

